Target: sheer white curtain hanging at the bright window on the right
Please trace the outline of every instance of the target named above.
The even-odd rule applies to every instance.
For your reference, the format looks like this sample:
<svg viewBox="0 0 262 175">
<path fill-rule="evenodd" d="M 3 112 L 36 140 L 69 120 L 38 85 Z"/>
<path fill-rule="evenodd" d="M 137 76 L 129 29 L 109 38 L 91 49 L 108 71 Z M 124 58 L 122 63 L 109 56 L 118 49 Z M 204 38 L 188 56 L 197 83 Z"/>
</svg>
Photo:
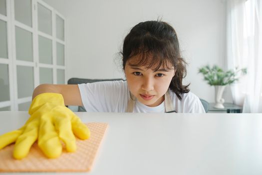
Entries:
<svg viewBox="0 0 262 175">
<path fill-rule="evenodd" d="M 247 67 L 231 86 L 243 112 L 262 112 L 262 0 L 227 0 L 227 64 Z"/>
</svg>

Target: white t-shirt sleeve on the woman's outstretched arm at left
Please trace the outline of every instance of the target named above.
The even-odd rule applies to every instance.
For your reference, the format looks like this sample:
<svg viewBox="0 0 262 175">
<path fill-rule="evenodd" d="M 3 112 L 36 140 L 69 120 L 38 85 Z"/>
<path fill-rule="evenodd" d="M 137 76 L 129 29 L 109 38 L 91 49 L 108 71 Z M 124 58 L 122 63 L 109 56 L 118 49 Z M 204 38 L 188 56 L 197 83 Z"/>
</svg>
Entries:
<svg viewBox="0 0 262 175">
<path fill-rule="evenodd" d="M 119 112 L 126 105 L 124 81 L 83 83 L 78 87 L 86 111 Z"/>
</svg>

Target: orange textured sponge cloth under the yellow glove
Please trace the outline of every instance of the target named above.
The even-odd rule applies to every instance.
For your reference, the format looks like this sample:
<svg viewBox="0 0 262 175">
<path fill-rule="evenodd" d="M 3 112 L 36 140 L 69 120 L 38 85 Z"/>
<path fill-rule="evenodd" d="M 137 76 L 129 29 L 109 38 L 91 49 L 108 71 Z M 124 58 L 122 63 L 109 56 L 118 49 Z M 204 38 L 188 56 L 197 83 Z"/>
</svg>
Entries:
<svg viewBox="0 0 262 175">
<path fill-rule="evenodd" d="M 0 150 L 0 172 L 90 171 L 107 126 L 106 123 L 87 123 L 90 138 L 76 138 L 76 152 L 63 150 L 61 156 L 55 159 L 46 158 L 34 143 L 25 158 L 16 160 L 12 157 L 14 144 L 8 145 Z"/>
</svg>

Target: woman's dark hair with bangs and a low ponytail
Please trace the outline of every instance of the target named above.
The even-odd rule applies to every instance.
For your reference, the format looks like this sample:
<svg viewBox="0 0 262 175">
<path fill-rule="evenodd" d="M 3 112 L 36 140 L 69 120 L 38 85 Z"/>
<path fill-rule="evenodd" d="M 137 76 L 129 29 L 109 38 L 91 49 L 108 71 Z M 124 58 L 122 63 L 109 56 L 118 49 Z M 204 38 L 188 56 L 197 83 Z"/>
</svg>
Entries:
<svg viewBox="0 0 262 175">
<path fill-rule="evenodd" d="M 152 20 L 138 23 L 125 37 L 120 53 L 123 69 L 127 60 L 138 54 L 141 54 L 141 59 L 134 66 L 144 65 L 157 70 L 161 65 L 169 69 L 171 63 L 176 72 L 169 88 L 179 99 L 180 94 L 189 92 L 189 84 L 182 84 L 187 73 L 187 62 L 181 57 L 177 33 L 167 22 Z M 151 59 L 148 59 L 149 56 Z"/>
</svg>

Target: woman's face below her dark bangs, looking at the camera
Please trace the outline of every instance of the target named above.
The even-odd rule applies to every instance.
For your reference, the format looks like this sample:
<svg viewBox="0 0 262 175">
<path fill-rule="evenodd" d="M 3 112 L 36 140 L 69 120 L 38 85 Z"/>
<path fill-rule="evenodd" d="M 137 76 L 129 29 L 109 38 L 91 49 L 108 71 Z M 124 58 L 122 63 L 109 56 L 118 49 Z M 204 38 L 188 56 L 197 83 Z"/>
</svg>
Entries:
<svg viewBox="0 0 262 175">
<path fill-rule="evenodd" d="M 172 77 L 175 75 L 174 67 L 170 69 L 160 66 L 154 71 L 145 66 L 133 66 L 139 61 L 138 56 L 129 58 L 125 65 L 125 75 L 130 92 L 143 104 L 157 106 L 161 104 L 168 90 Z"/>
</svg>

